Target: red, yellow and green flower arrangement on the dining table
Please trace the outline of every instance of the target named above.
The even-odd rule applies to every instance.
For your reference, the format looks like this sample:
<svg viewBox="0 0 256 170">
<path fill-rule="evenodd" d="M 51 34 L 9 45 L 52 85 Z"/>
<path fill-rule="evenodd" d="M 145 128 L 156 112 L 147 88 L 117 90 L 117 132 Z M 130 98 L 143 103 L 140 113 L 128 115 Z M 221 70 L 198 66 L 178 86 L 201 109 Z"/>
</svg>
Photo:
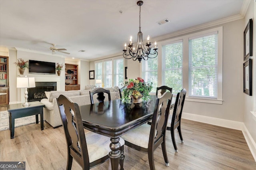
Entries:
<svg viewBox="0 0 256 170">
<path fill-rule="evenodd" d="M 130 103 L 131 98 L 139 99 L 142 97 L 142 101 L 150 99 L 149 93 L 152 90 L 153 83 L 146 83 L 144 79 L 138 77 L 137 79 L 129 79 L 124 84 L 126 89 L 122 92 L 122 101 L 124 103 Z"/>
</svg>

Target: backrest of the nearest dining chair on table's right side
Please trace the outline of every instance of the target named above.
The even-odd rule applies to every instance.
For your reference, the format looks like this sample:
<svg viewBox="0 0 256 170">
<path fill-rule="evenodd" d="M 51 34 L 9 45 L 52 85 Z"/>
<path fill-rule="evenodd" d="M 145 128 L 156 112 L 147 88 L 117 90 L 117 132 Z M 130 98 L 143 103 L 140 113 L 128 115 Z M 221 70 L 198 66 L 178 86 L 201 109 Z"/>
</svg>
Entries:
<svg viewBox="0 0 256 170">
<path fill-rule="evenodd" d="M 149 137 L 149 145 L 151 146 L 149 147 L 153 147 L 166 133 L 171 100 L 172 94 L 170 91 L 165 92 L 160 98 L 156 99 Z"/>
</svg>

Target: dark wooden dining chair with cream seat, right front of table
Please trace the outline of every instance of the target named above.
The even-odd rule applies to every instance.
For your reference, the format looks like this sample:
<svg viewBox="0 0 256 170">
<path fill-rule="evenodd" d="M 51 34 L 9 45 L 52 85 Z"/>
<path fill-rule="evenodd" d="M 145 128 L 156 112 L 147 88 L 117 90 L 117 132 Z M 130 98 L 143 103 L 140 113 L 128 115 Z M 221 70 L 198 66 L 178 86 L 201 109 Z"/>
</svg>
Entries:
<svg viewBox="0 0 256 170">
<path fill-rule="evenodd" d="M 125 141 L 125 145 L 148 153 L 150 170 L 155 169 L 154 150 L 156 150 L 160 144 L 162 146 L 165 164 L 166 166 L 169 166 L 166 152 L 165 134 L 171 100 L 172 93 L 170 93 L 170 91 L 165 92 L 160 98 L 156 99 L 152 124 L 148 125 L 145 123 L 122 136 Z M 158 115 L 160 116 L 158 117 Z"/>
</svg>

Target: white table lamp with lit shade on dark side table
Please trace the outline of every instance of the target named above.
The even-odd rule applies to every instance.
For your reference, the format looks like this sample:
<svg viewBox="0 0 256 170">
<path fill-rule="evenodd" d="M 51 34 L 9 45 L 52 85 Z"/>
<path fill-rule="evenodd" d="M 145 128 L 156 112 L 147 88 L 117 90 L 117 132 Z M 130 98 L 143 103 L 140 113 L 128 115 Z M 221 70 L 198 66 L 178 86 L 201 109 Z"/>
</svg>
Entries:
<svg viewBox="0 0 256 170">
<path fill-rule="evenodd" d="M 29 106 L 28 103 L 28 88 L 36 87 L 35 77 L 17 77 L 17 88 L 25 88 L 26 102 L 22 106 Z"/>
</svg>

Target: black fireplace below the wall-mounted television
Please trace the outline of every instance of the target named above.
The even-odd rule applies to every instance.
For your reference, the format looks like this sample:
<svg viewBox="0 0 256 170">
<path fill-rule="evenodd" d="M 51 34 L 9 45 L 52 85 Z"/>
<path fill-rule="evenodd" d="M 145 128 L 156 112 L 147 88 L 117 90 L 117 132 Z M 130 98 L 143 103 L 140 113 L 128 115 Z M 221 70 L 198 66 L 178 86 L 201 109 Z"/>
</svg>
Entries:
<svg viewBox="0 0 256 170">
<path fill-rule="evenodd" d="M 28 88 L 28 101 L 41 101 L 46 98 L 45 91 L 53 91 L 56 88 L 56 82 L 36 82 L 36 87 Z"/>
</svg>

